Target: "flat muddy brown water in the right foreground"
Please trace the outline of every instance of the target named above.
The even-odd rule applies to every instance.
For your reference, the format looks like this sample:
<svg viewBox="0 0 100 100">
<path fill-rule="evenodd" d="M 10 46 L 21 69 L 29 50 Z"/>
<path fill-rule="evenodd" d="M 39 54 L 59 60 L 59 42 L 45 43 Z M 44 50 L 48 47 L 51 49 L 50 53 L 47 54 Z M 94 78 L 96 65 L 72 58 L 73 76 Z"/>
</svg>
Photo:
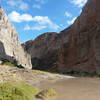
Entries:
<svg viewBox="0 0 100 100">
<path fill-rule="evenodd" d="M 43 82 L 40 89 L 54 88 L 56 98 L 50 100 L 100 100 L 100 79 L 74 78 Z"/>
</svg>

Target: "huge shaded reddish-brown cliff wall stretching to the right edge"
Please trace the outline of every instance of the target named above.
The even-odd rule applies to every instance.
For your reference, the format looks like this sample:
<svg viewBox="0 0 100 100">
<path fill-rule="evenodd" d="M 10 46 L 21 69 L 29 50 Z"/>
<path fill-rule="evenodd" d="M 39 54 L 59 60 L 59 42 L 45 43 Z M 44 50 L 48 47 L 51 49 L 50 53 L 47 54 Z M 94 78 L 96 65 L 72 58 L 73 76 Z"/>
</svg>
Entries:
<svg viewBox="0 0 100 100">
<path fill-rule="evenodd" d="M 49 63 L 51 57 L 48 58 L 48 55 L 55 50 L 53 58 L 55 54 L 57 56 L 49 64 L 49 69 L 55 68 L 60 72 L 100 72 L 100 0 L 88 0 L 81 15 L 69 28 L 59 34 L 52 33 L 47 40 L 45 35 L 26 43 L 25 48 L 32 59 L 47 57 Z"/>
</svg>

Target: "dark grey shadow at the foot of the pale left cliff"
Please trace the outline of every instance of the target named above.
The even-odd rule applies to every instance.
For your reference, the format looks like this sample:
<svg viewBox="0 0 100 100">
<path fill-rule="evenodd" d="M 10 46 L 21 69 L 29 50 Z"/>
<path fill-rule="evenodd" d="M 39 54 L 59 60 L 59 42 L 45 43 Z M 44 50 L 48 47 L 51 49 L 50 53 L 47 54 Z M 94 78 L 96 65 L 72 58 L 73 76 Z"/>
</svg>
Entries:
<svg viewBox="0 0 100 100">
<path fill-rule="evenodd" d="M 17 61 L 15 60 L 14 56 L 9 56 L 5 52 L 4 44 L 0 41 L 0 59 L 4 59 L 6 61 L 10 61 L 17 64 Z"/>
</svg>

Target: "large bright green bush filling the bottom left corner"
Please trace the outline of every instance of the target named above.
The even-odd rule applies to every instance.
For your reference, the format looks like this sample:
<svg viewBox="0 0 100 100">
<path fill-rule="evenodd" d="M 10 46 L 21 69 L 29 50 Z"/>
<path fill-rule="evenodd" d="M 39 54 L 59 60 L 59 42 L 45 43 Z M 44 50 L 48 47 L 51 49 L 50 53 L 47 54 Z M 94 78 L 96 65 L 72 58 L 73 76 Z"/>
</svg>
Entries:
<svg viewBox="0 0 100 100">
<path fill-rule="evenodd" d="M 0 84 L 0 100 L 34 100 L 37 93 L 37 88 L 23 82 Z"/>
</svg>

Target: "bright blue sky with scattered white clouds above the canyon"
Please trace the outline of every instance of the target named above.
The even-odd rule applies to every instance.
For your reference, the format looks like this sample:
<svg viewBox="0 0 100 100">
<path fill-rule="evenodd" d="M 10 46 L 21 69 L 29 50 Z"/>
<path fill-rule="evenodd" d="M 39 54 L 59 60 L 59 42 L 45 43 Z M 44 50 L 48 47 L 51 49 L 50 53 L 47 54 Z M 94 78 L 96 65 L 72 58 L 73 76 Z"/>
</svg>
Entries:
<svg viewBox="0 0 100 100">
<path fill-rule="evenodd" d="M 0 0 L 0 6 L 16 27 L 19 40 L 35 39 L 45 32 L 69 27 L 87 0 Z"/>
</svg>

